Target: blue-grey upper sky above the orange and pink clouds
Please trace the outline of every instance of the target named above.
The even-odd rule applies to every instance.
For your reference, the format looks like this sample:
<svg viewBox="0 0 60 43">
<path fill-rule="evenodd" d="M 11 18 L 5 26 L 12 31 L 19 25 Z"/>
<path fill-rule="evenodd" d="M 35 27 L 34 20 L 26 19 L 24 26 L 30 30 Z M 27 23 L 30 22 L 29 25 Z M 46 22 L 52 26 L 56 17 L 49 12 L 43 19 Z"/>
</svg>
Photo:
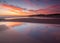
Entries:
<svg viewBox="0 0 60 43">
<path fill-rule="evenodd" d="M 27 9 L 44 9 L 51 5 L 59 5 L 60 0 L 0 0 L 0 3 L 7 3 Z"/>
</svg>

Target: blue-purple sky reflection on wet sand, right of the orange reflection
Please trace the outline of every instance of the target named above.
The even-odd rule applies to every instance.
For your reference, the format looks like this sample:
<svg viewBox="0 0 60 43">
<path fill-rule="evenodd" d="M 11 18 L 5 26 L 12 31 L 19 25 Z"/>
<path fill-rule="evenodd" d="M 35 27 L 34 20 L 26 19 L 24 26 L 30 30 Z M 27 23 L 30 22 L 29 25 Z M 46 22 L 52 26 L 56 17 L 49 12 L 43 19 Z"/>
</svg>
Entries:
<svg viewBox="0 0 60 43">
<path fill-rule="evenodd" d="M 17 29 L 16 29 L 17 28 Z M 14 30 L 25 34 L 38 43 L 58 43 L 60 42 L 59 24 L 34 24 L 25 23 L 25 25 L 16 26 Z M 35 42 L 35 43 L 37 43 Z"/>
</svg>

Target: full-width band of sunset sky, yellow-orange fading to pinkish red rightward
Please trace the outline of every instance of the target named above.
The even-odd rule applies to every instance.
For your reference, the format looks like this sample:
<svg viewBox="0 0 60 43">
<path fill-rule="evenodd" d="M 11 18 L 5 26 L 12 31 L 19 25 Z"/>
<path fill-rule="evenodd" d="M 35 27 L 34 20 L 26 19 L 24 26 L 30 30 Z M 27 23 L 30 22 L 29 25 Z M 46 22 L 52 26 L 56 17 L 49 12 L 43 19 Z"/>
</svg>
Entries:
<svg viewBox="0 0 60 43">
<path fill-rule="evenodd" d="M 59 7 L 54 7 L 54 6 L 52 5 L 46 9 L 24 10 L 24 8 L 18 8 L 7 4 L 0 4 L 0 16 L 30 16 L 37 14 L 48 15 L 48 14 L 57 14 L 57 13 L 60 14 L 60 12 L 56 11 L 56 8 Z"/>
</svg>

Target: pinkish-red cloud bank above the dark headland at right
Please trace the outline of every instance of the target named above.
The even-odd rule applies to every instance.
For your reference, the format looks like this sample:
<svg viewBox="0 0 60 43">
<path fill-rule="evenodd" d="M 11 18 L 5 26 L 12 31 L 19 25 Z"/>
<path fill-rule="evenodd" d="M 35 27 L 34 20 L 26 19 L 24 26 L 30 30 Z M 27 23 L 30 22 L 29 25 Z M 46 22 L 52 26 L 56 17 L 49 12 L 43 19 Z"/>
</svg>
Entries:
<svg viewBox="0 0 60 43">
<path fill-rule="evenodd" d="M 55 14 L 55 13 L 60 14 L 59 9 L 60 9 L 60 5 L 51 5 L 45 9 L 36 10 L 36 12 L 39 14 Z"/>
</svg>

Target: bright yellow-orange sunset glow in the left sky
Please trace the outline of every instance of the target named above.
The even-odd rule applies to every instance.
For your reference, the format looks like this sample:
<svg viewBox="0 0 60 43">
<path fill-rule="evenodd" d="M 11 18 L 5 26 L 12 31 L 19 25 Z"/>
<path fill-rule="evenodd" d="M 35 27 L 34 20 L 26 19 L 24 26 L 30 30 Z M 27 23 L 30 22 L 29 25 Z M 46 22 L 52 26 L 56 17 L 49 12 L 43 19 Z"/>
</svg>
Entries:
<svg viewBox="0 0 60 43">
<path fill-rule="evenodd" d="M 6 4 L 0 5 L 0 16 L 29 16 L 31 12 L 23 12 L 23 8 L 17 8 Z"/>
</svg>

